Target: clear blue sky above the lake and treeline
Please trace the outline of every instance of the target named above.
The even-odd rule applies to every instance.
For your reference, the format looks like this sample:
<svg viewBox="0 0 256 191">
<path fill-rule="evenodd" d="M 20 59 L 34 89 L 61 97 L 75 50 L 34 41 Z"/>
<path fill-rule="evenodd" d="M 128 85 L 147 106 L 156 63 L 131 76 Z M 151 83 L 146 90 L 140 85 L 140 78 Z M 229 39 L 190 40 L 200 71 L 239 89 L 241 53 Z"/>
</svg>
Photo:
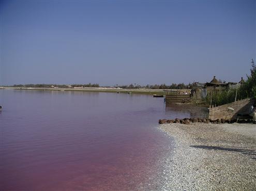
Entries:
<svg viewBox="0 0 256 191">
<path fill-rule="evenodd" d="M 237 82 L 255 1 L 1 1 L 1 83 Z"/>
</svg>

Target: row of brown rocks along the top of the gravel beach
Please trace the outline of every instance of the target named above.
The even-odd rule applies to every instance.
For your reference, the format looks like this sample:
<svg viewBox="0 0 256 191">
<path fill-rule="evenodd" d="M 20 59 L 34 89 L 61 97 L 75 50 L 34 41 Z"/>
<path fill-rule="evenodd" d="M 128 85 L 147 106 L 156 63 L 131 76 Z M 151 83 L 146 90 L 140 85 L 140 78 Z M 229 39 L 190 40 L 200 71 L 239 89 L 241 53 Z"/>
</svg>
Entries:
<svg viewBox="0 0 256 191">
<path fill-rule="evenodd" d="M 204 124 L 208 124 L 208 123 L 212 123 L 212 124 L 224 124 L 224 123 L 234 123 L 236 122 L 236 120 L 225 120 L 225 119 L 216 119 L 216 120 L 212 120 L 212 119 L 207 119 L 207 118 L 184 118 L 184 119 L 159 119 L 158 123 L 159 124 L 190 124 L 190 123 L 204 123 Z"/>
</svg>

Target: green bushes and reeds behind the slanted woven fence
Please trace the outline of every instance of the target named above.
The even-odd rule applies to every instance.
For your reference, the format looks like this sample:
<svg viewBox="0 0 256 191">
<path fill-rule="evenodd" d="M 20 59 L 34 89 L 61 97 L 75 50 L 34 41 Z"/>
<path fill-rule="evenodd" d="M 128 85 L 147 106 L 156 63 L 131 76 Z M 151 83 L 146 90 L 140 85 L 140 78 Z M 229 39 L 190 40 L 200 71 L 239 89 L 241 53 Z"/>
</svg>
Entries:
<svg viewBox="0 0 256 191">
<path fill-rule="evenodd" d="M 212 105 L 220 106 L 236 100 L 253 97 L 256 99 L 256 66 L 252 63 L 251 75 L 237 89 L 214 90 L 212 91 Z M 210 105 L 210 93 L 206 97 Z"/>
</svg>

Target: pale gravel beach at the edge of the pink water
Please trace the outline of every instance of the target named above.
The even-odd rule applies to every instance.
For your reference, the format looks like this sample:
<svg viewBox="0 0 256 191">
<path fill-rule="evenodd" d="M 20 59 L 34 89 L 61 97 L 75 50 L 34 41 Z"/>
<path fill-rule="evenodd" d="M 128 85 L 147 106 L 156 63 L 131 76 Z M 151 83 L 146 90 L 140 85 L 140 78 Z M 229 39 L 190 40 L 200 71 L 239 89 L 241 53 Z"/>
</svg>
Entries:
<svg viewBox="0 0 256 191">
<path fill-rule="evenodd" d="M 256 190 L 256 125 L 159 127 L 174 138 L 162 190 Z"/>
</svg>

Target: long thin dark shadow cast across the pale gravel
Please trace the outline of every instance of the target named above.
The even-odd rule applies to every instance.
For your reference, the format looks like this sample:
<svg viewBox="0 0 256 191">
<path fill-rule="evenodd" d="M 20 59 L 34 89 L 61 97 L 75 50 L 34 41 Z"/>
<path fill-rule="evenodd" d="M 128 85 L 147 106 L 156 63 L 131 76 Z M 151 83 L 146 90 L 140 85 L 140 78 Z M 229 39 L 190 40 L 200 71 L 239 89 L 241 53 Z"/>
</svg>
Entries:
<svg viewBox="0 0 256 191">
<path fill-rule="evenodd" d="M 249 155 L 256 155 L 255 150 L 248 150 L 248 149 L 233 149 L 233 148 L 224 148 L 224 147 L 216 147 L 216 146 L 208 146 L 208 145 L 190 145 L 190 147 L 198 148 L 198 149 L 209 149 L 209 150 L 224 150 L 224 151 L 231 151 L 231 152 L 240 152 L 243 154 Z M 253 158 L 256 160 L 256 158 Z"/>
</svg>

